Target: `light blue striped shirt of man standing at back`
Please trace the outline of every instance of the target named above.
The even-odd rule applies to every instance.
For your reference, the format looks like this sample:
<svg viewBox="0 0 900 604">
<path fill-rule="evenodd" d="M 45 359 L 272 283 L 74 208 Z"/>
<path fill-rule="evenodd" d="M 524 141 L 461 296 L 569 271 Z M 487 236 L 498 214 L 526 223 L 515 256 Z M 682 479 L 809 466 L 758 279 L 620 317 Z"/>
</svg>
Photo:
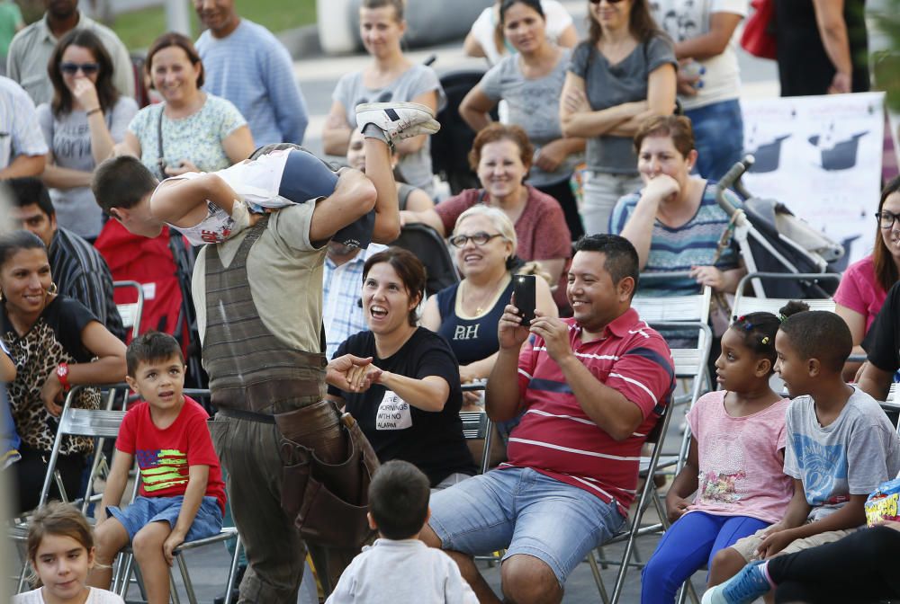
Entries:
<svg viewBox="0 0 900 604">
<path fill-rule="evenodd" d="M 241 19 L 225 38 L 203 31 L 197 40 L 206 83 L 203 90 L 238 108 L 257 147 L 301 145 L 310 120 L 284 45 L 262 25 Z"/>
</svg>

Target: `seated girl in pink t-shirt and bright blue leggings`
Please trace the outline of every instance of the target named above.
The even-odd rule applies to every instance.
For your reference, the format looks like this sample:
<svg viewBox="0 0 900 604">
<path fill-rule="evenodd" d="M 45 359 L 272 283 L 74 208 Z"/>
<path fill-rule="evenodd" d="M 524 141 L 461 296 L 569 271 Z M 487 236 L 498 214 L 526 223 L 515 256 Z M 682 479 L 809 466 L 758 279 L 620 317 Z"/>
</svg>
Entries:
<svg viewBox="0 0 900 604">
<path fill-rule="evenodd" d="M 673 524 L 644 567 L 642 604 L 671 604 L 681 583 L 703 564 L 712 566 L 716 552 L 781 520 L 788 507 L 790 401 L 769 386 L 779 325 L 771 313 L 752 313 L 722 336 L 716 360 L 722 389 L 701 396 L 688 412 L 688 461 L 666 495 Z"/>
</svg>

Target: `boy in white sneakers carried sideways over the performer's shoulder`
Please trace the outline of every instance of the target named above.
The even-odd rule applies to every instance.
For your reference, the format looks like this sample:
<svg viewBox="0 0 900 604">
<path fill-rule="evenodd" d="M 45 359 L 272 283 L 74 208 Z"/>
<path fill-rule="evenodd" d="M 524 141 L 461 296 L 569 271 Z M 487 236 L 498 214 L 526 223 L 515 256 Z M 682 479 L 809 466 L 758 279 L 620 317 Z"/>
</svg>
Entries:
<svg viewBox="0 0 900 604">
<path fill-rule="evenodd" d="M 356 120 L 363 124 L 366 176 L 375 186 L 377 200 L 372 212 L 341 229 L 334 240 L 365 247 L 389 230 L 377 215 L 396 212 L 389 146 L 403 138 L 434 134 L 440 124 L 428 107 L 413 102 L 359 105 Z M 356 171 L 342 168 L 335 173 L 302 148 L 277 147 L 282 146 L 263 147 L 253 158 L 219 172 L 184 173 L 163 182 L 157 182 L 136 157 L 121 155 L 97 167 L 91 188 L 103 211 L 130 233 L 156 237 L 168 225 L 191 244 L 201 245 L 228 239 L 266 211 L 329 197 L 339 187 L 357 182 L 345 181 L 345 174 Z"/>
</svg>

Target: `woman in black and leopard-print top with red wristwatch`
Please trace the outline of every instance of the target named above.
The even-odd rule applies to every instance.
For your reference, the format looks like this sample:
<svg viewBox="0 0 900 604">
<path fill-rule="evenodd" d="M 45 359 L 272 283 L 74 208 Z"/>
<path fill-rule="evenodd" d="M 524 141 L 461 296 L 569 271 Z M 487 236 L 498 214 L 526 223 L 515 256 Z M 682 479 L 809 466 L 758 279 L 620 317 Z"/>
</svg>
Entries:
<svg viewBox="0 0 900 604">
<path fill-rule="evenodd" d="M 39 502 L 67 387 L 111 384 L 125 377 L 125 345 L 85 306 L 57 296 L 55 289 L 47 250 L 38 237 L 27 231 L 0 235 L 0 340 L 15 361 L 8 395 L 22 439 L 22 459 L 15 464 L 19 511 Z M 100 393 L 82 390 L 73 404 L 95 409 Z M 79 491 L 85 455 L 92 449 L 85 438 L 62 442 L 57 467 L 70 498 Z"/>
</svg>

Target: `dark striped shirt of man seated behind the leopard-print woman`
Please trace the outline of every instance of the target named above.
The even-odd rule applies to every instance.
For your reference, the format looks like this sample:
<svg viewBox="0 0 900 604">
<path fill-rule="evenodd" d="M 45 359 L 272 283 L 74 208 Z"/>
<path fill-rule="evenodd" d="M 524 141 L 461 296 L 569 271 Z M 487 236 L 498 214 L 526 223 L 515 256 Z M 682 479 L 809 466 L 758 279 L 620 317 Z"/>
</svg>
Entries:
<svg viewBox="0 0 900 604">
<path fill-rule="evenodd" d="M 59 293 L 87 306 L 112 335 L 124 340 L 125 328 L 112 299 L 112 274 L 96 248 L 58 227 L 47 255 Z"/>
</svg>

